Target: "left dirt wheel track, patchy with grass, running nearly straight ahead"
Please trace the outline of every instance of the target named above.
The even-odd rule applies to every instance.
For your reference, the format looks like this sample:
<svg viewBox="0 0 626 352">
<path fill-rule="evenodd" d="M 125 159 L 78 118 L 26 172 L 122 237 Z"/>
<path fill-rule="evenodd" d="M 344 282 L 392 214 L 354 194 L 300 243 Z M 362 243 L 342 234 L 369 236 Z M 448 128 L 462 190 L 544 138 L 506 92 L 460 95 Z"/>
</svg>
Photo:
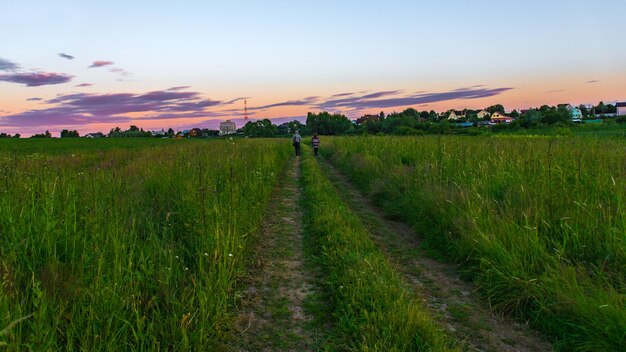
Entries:
<svg viewBox="0 0 626 352">
<path fill-rule="evenodd" d="M 311 351 L 321 332 L 304 309 L 314 294 L 302 252 L 300 161 L 276 187 L 236 319 L 233 351 Z"/>
</svg>

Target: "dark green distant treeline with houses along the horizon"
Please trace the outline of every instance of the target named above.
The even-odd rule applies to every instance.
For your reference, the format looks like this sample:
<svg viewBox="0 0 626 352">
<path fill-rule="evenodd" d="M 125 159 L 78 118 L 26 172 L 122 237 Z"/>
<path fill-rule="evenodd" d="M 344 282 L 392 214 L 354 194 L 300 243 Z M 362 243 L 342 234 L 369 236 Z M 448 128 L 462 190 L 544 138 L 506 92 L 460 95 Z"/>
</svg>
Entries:
<svg viewBox="0 0 626 352">
<path fill-rule="evenodd" d="M 539 108 L 506 113 L 502 104 L 495 104 L 484 109 L 472 110 L 448 110 L 437 113 L 434 110 L 418 111 L 414 108 L 405 109 L 402 112 L 385 114 L 381 111 L 377 115 L 364 115 L 356 120 L 350 120 L 339 113 L 326 111 L 319 113 L 307 113 L 306 122 L 298 120 L 275 125 L 270 119 L 248 121 L 242 128 L 237 130 L 240 135 L 247 137 L 280 137 L 299 131 L 300 134 L 310 135 L 348 135 L 348 134 L 395 134 L 395 135 L 419 135 L 426 133 L 446 134 L 458 128 L 466 127 L 490 127 L 493 131 L 515 130 L 520 128 L 542 127 L 567 127 L 577 122 L 572 119 L 572 108 L 580 110 L 582 121 L 602 118 L 604 122 L 618 124 L 626 123 L 626 116 L 616 116 L 617 107 L 613 104 L 600 102 L 595 106 L 579 105 L 572 107 L 567 104 L 558 106 L 542 105 Z M 451 114 L 455 118 L 451 119 Z M 506 123 L 491 121 L 491 116 L 498 113 L 501 117 L 511 118 Z M 580 121 L 578 121 L 580 122 Z M 127 137 L 127 138 L 208 138 L 220 135 L 218 130 L 207 128 L 192 128 L 184 131 L 174 131 L 172 128 L 161 131 L 144 131 L 135 125 L 127 130 L 120 127 L 112 128 L 107 135 L 97 132 L 89 133 L 85 137 Z M 49 131 L 35 134 L 31 138 L 51 138 Z M 80 137 L 76 130 L 63 130 L 61 138 Z M 20 138 L 19 134 L 0 133 L 0 138 Z"/>
</svg>

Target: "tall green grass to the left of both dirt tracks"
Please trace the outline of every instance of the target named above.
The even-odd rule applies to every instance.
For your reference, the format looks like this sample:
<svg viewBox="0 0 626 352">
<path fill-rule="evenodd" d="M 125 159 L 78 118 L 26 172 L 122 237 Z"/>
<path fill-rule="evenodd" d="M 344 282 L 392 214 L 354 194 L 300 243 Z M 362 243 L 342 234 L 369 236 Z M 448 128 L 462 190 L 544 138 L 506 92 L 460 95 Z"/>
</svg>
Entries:
<svg viewBox="0 0 626 352">
<path fill-rule="evenodd" d="M 60 142 L 0 151 L 0 342 L 216 348 L 287 143 Z"/>
</svg>

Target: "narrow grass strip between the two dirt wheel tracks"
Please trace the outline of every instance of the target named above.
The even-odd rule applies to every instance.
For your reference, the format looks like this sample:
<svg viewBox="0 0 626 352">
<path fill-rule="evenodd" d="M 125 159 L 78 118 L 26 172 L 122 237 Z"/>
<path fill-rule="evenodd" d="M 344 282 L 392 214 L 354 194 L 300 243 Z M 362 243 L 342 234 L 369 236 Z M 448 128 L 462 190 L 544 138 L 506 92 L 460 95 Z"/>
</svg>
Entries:
<svg viewBox="0 0 626 352">
<path fill-rule="evenodd" d="M 306 153 L 305 153 L 306 154 Z M 308 226 L 336 321 L 331 351 L 449 351 L 446 335 L 412 299 L 357 215 L 311 157 L 302 163 Z"/>
</svg>

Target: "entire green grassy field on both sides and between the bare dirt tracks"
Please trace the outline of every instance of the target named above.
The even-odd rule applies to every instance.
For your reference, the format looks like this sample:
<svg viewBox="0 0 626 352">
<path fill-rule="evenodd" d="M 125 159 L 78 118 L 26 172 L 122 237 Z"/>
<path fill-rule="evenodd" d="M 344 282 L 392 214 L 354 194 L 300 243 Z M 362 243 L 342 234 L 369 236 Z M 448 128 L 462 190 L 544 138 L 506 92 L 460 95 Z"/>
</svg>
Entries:
<svg viewBox="0 0 626 352">
<path fill-rule="evenodd" d="M 555 350 L 625 349 L 623 138 L 323 137 L 321 152 L 296 159 L 286 139 L 0 140 L 0 346 L 227 349 L 291 167 L 304 209 L 291 226 L 319 293 L 305 308 L 325 331 L 314 349 L 465 349 L 342 200 L 333 165 L 412 227 L 416 255 L 458 264 L 487 310 Z"/>
</svg>

